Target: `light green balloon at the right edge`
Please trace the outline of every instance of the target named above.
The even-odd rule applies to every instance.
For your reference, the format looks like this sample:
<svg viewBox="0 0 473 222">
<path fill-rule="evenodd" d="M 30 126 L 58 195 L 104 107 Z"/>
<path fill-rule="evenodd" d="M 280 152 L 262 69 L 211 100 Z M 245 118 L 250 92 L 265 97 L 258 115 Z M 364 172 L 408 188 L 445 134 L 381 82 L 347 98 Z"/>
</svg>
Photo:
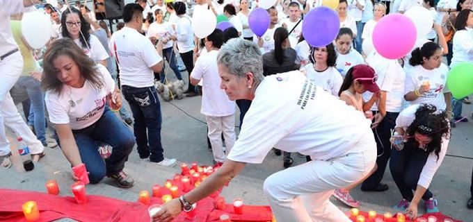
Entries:
<svg viewBox="0 0 473 222">
<path fill-rule="evenodd" d="M 447 85 L 456 99 L 473 94 L 473 63 L 463 62 L 451 69 Z"/>
</svg>

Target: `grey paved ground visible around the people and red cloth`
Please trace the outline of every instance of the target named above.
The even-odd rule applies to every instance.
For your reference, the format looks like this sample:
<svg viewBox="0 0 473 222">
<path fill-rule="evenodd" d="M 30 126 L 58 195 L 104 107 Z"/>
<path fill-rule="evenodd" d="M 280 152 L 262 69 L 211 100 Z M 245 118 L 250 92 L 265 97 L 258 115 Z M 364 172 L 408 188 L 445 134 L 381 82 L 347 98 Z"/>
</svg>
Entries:
<svg viewBox="0 0 473 222">
<path fill-rule="evenodd" d="M 183 76 L 187 75 L 183 73 Z M 205 117 L 200 114 L 200 97 L 186 98 L 171 103 L 163 102 L 161 109 L 163 113 L 161 137 L 166 156 L 175 157 L 181 162 L 195 161 L 200 164 L 211 164 L 212 156 L 205 141 Z M 452 130 L 453 136 L 447 152 L 448 156 L 445 157 L 431 185 L 431 191 L 438 196 L 442 212 L 463 221 L 473 221 L 473 211 L 467 210 L 465 206 L 467 199 L 470 198 L 469 190 L 473 166 L 472 110 L 472 105 L 464 105 L 464 114 L 470 115 L 470 122 L 459 123 Z M 235 118 L 238 119 L 238 114 Z M 13 149 L 16 147 L 13 146 Z M 294 160 L 295 164 L 305 161 L 297 155 L 294 155 Z M 56 179 L 62 188 L 61 194 L 72 195 L 67 189 L 72 184 L 70 165 L 58 148 L 48 148 L 44 159 L 36 164 L 34 171 L 28 173 L 23 171 L 17 155 L 14 156 L 14 161 L 15 166 L 11 169 L 0 169 L 2 176 L 0 188 L 45 191 L 45 182 Z M 173 173 L 177 173 L 178 168 L 163 168 L 139 160 L 136 150 L 134 150 L 127 162 L 126 169 L 134 176 L 135 187 L 119 189 L 113 186 L 111 180 L 105 179 L 98 185 L 89 185 L 87 191 L 89 194 L 134 201 L 139 191 L 151 189 L 155 183 L 162 184 L 166 179 L 171 178 Z M 282 157 L 276 157 L 272 152 L 268 153 L 262 164 L 248 164 L 241 175 L 230 184 L 230 187 L 224 189 L 223 194 L 227 200 L 241 197 L 248 204 L 266 205 L 267 201 L 262 195 L 262 183 L 266 177 L 282 169 Z M 383 193 L 365 193 L 360 191 L 358 187 L 353 190 L 353 196 L 362 202 L 360 207 L 362 210 L 390 212 L 390 207 L 400 200 L 401 195 L 394 185 L 389 170 L 385 173 L 383 182 L 390 185 L 390 189 Z M 337 200 L 333 200 L 333 202 L 342 209 L 348 210 Z M 423 204 L 419 205 L 419 209 L 422 209 L 422 206 Z"/>
</svg>

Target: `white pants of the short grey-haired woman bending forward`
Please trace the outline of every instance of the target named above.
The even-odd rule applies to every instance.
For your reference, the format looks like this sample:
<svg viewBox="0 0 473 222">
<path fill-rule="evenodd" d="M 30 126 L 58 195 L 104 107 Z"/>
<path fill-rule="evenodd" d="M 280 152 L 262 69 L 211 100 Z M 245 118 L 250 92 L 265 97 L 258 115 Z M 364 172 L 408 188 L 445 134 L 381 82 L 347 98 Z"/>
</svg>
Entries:
<svg viewBox="0 0 473 222">
<path fill-rule="evenodd" d="M 360 180 L 376 162 L 376 142 L 367 134 L 347 155 L 312 160 L 274 173 L 264 181 L 264 193 L 277 221 L 351 221 L 330 196 Z"/>
</svg>

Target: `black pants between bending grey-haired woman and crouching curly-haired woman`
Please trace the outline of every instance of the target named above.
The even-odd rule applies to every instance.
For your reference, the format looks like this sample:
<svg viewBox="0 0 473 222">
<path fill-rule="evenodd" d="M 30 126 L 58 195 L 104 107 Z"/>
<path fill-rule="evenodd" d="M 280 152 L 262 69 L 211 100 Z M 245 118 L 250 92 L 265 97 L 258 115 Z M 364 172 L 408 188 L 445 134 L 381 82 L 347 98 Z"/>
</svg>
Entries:
<svg viewBox="0 0 473 222">
<path fill-rule="evenodd" d="M 376 114 L 374 112 L 373 114 Z M 396 126 L 396 118 L 399 112 L 386 112 L 386 116 L 379 125 L 374 128 L 374 139 L 376 140 L 376 146 L 378 148 L 378 158 L 376 158 L 376 164 L 378 169 L 369 176 L 362 183 L 362 189 L 374 189 L 379 185 L 386 170 L 387 160 L 390 160 L 391 155 L 391 130 Z"/>
</svg>

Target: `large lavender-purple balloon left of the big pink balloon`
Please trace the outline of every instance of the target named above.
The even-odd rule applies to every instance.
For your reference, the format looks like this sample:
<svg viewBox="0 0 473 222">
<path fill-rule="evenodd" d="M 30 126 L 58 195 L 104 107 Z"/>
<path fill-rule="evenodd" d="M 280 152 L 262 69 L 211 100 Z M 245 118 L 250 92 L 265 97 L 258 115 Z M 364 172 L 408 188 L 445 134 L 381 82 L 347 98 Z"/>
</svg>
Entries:
<svg viewBox="0 0 473 222">
<path fill-rule="evenodd" d="M 330 44 L 339 31 L 340 20 L 337 12 L 325 6 L 310 10 L 302 23 L 302 35 L 305 41 L 314 47 Z"/>
</svg>

